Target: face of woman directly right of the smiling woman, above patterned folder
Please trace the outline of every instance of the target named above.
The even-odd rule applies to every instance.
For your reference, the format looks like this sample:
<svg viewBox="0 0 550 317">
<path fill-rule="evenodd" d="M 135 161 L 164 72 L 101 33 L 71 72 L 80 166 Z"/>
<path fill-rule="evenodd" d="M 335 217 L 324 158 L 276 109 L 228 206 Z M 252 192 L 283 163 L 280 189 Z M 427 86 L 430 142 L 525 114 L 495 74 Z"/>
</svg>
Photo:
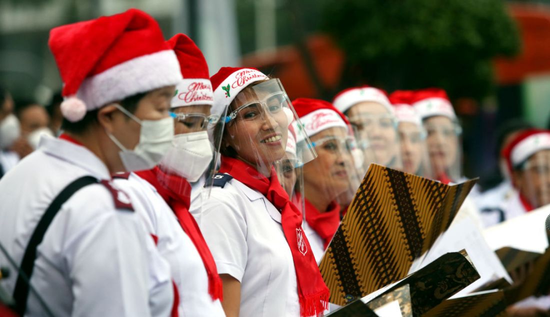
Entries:
<svg viewBox="0 0 550 317">
<path fill-rule="evenodd" d="M 317 158 L 303 168 L 306 193 L 315 192 L 334 200 L 349 188 L 349 173 L 354 163 L 351 152 L 345 146 L 346 138 L 346 130 L 338 127 L 311 136 Z"/>
</svg>

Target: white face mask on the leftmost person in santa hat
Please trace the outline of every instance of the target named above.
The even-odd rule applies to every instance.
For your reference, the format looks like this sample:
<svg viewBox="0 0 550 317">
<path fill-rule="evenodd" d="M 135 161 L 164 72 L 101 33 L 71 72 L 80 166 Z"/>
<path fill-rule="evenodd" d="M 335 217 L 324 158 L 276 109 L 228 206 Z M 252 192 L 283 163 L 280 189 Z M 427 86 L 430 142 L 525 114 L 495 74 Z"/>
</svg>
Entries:
<svg viewBox="0 0 550 317">
<path fill-rule="evenodd" d="M 111 133 L 107 135 L 119 149 L 120 160 L 128 172 L 150 170 L 155 167 L 172 146 L 174 119 L 140 120 L 120 105 L 116 105 L 128 117 L 141 125 L 139 143 L 134 150 L 128 150 Z"/>
</svg>

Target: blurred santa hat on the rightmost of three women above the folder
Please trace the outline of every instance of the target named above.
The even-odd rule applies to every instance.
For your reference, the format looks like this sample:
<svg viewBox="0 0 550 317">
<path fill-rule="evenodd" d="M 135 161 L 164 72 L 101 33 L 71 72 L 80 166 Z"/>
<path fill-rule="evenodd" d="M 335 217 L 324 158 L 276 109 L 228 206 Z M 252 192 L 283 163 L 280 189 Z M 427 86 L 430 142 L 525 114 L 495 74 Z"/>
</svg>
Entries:
<svg viewBox="0 0 550 317">
<path fill-rule="evenodd" d="M 415 107 L 420 118 L 426 119 L 433 116 L 444 116 L 453 121 L 456 120 L 453 105 L 449 101 L 447 92 L 439 88 L 428 88 L 415 91 L 411 99 L 411 105 Z"/>
</svg>

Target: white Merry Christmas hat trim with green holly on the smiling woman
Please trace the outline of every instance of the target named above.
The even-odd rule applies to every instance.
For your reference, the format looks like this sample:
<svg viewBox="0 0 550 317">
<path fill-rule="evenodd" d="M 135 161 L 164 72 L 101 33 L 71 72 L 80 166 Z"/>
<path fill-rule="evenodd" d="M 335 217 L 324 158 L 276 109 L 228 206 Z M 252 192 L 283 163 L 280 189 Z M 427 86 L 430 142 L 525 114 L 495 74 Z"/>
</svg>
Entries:
<svg viewBox="0 0 550 317">
<path fill-rule="evenodd" d="M 246 86 L 255 83 L 256 81 L 265 80 L 268 77 L 256 69 L 243 68 L 232 73 L 223 80 L 222 84 L 214 90 L 214 105 L 212 106 L 212 114 L 221 116 L 223 111 L 235 99 L 239 92 Z"/>
</svg>

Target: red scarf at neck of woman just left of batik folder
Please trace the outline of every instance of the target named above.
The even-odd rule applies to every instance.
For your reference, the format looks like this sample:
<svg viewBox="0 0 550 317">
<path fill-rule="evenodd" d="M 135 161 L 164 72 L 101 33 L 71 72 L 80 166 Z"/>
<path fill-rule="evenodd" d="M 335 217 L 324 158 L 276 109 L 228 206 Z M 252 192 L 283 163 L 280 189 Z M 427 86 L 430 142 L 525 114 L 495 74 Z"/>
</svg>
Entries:
<svg viewBox="0 0 550 317">
<path fill-rule="evenodd" d="M 340 226 L 340 205 L 333 201 L 326 212 L 318 211 L 307 198 L 305 205 L 307 224 L 323 239 L 324 249 L 326 250 L 334 233 Z"/>
</svg>

